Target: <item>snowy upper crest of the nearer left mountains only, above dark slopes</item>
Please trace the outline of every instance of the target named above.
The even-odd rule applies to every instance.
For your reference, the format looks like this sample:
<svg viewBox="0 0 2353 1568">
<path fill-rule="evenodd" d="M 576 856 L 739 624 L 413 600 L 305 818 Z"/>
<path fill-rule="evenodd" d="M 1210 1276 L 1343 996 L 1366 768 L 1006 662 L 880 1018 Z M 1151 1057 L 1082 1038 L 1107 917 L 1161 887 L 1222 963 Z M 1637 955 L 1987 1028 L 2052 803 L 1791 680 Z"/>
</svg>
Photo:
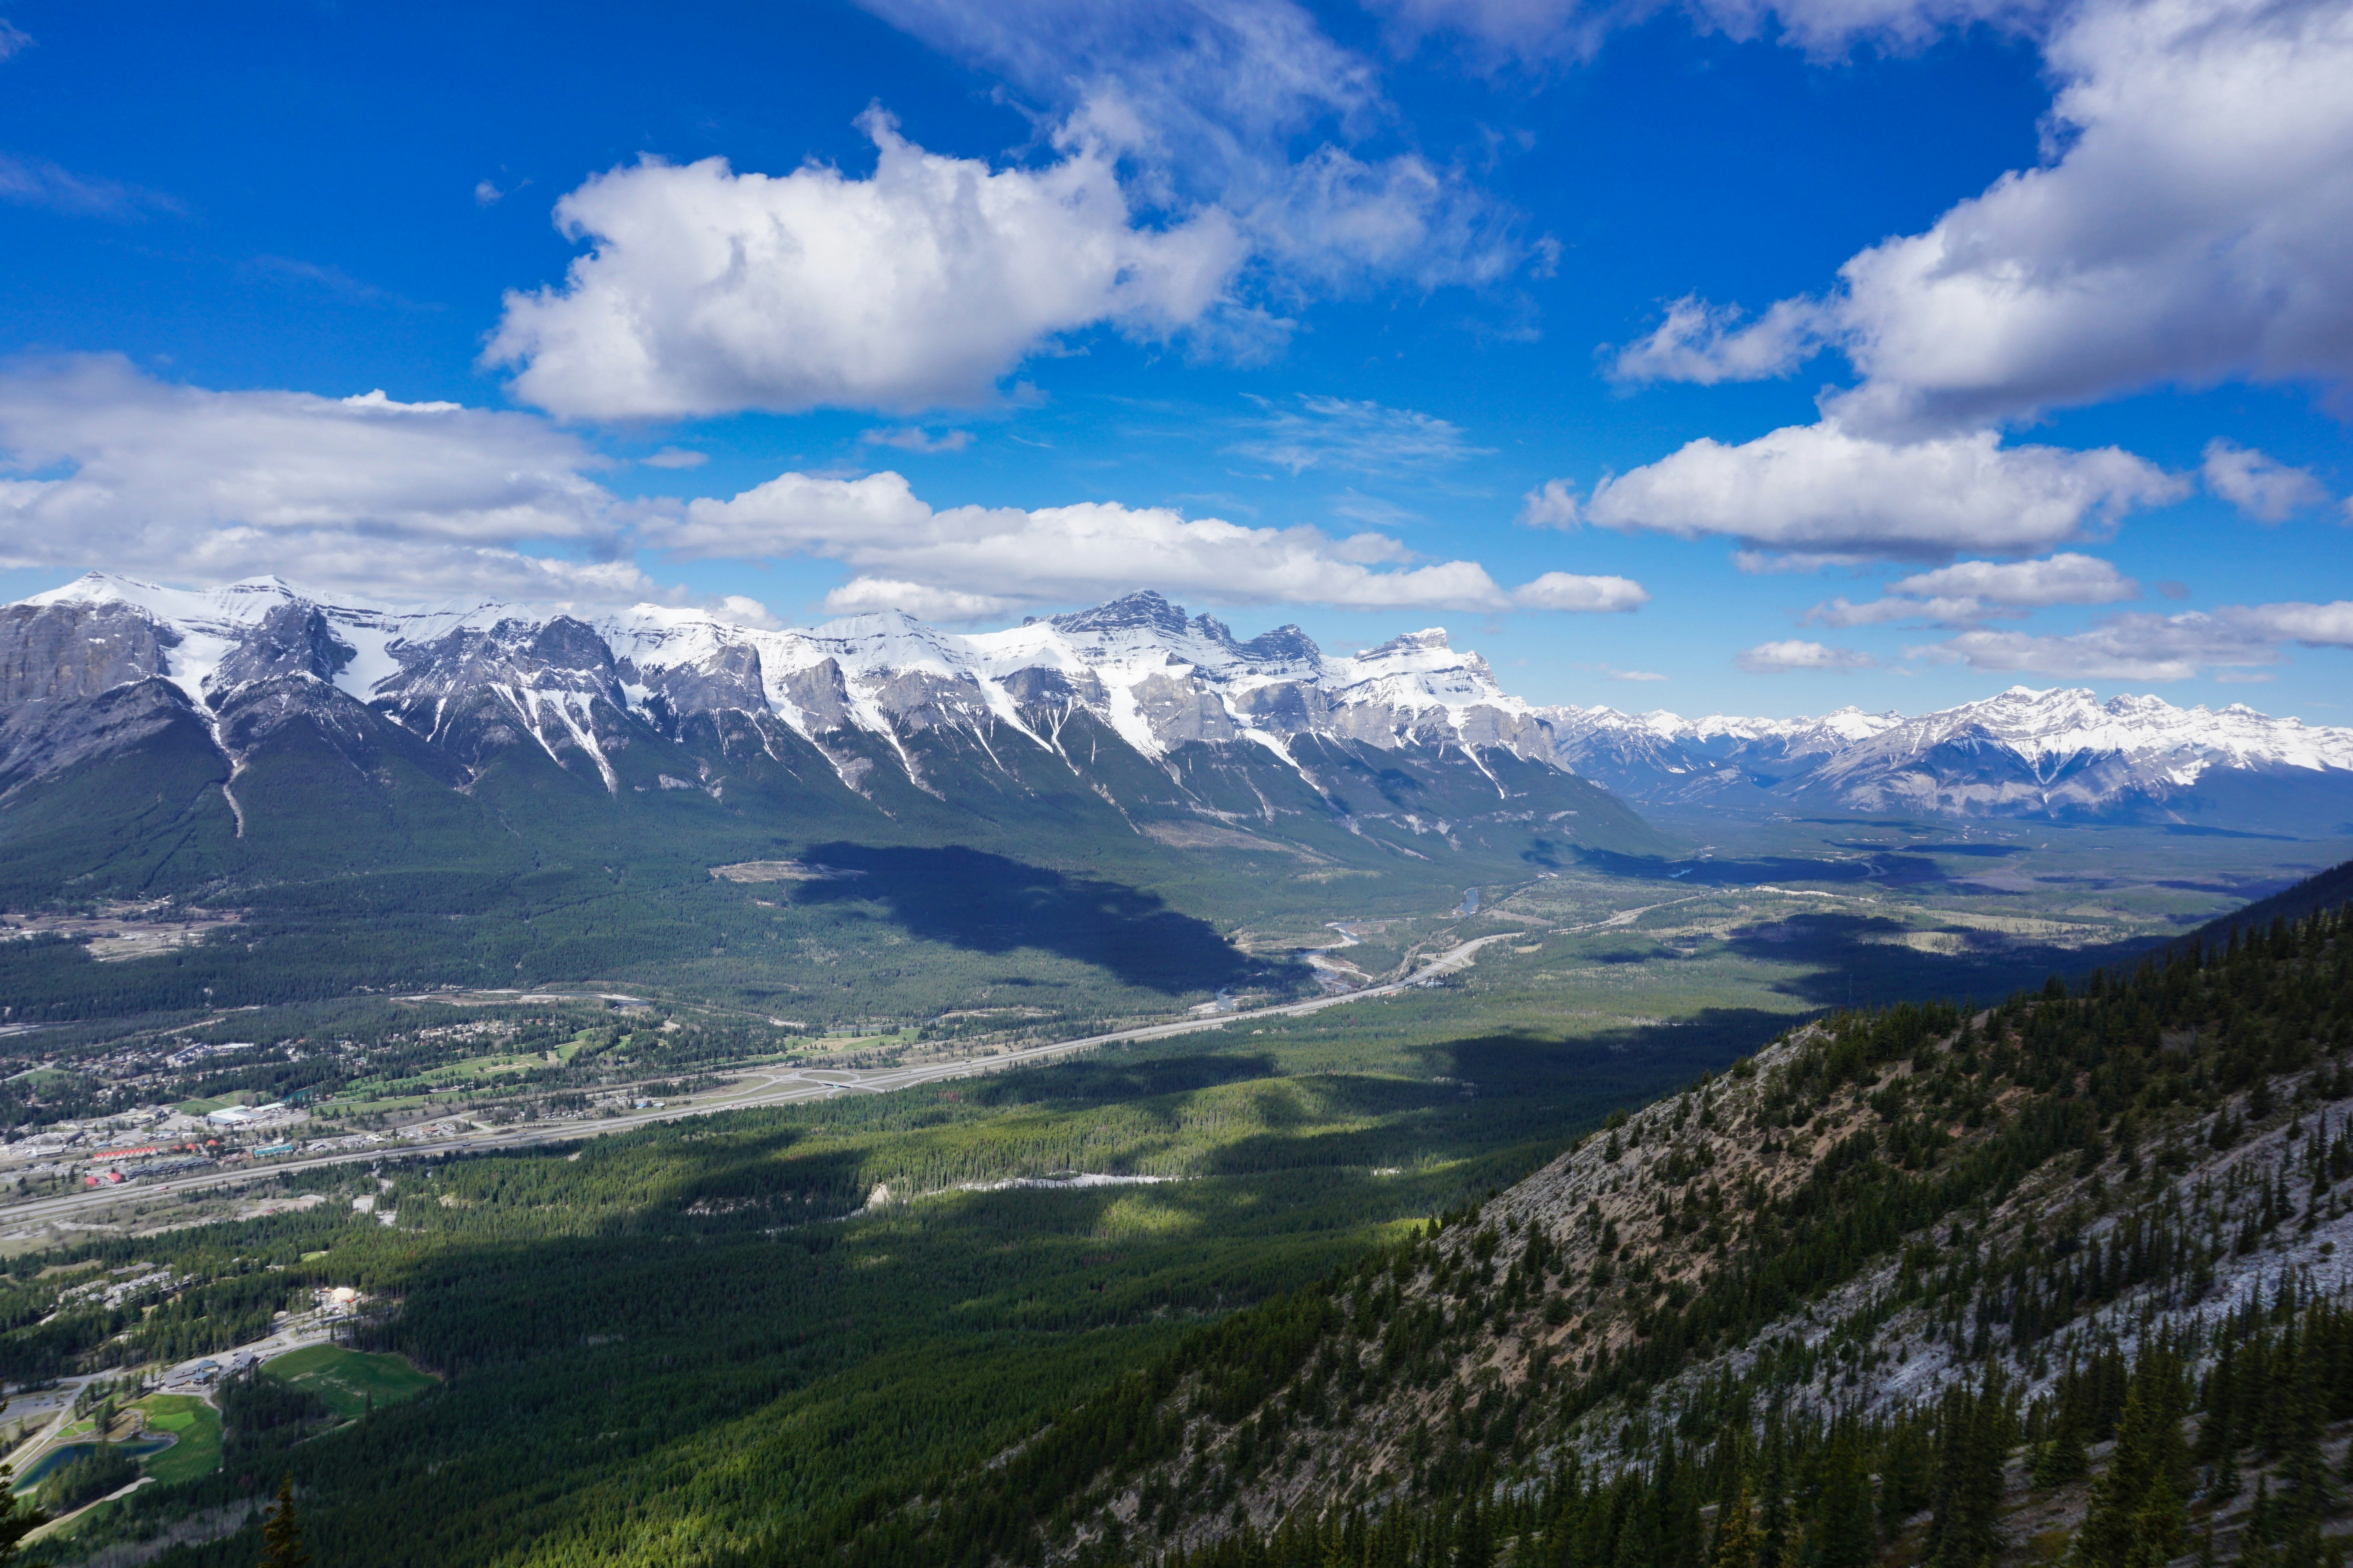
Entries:
<svg viewBox="0 0 2353 1568">
<path fill-rule="evenodd" d="M 1026 715 L 1078 705 L 1146 757 L 1186 741 L 1287 755 L 1301 733 L 1551 757 L 1534 710 L 1442 630 L 1332 658 L 1297 625 L 1238 642 L 1155 592 L 951 635 L 896 611 L 762 630 L 654 604 L 598 618 L 496 602 L 393 609 L 308 597 L 278 578 L 191 592 L 89 574 L 7 616 L 0 705 L 162 677 L 212 712 L 240 686 L 299 672 L 428 741 L 454 698 L 487 693 L 541 745 L 591 752 L 591 708 L 609 703 L 664 726 L 762 712 L 807 741 L 842 729 L 896 741 L 984 719 L 1031 733 Z"/>
</svg>

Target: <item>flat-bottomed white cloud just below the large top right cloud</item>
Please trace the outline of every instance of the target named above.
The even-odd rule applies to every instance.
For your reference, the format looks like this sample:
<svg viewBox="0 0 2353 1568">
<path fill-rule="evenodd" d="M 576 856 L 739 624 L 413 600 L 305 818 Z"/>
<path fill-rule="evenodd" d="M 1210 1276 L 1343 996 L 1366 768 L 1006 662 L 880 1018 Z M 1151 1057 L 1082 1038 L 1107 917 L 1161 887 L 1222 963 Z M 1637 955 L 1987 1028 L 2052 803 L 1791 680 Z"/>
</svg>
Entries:
<svg viewBox="0 0 2353 1568">
<path fill-rule="evenodd" d="M 2181 489 L 2115 447 L 2005 447 L 1993 430 L 1882 442 L 1833 418 L 1739 447 L 1701 437 L 1595 484 L 1586 517 L 1805 555 L 1901 559 L 2047 550 Z"/>
</svg>

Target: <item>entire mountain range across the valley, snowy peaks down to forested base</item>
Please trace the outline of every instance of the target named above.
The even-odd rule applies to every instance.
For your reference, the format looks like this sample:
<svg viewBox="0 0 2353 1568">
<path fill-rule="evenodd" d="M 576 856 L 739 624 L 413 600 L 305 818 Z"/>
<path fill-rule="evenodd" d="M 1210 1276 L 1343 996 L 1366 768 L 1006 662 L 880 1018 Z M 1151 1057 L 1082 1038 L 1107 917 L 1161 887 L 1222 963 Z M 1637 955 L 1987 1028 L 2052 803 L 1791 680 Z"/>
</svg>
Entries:
<svg viewBox="0 0 2353 1568">
<path fill-rule="evenodd" d="M 296 839 L 400 858 L 518 832 L 513 790 L 532 820 L 645 802 L 722 837 L 1471 856 L 1468 882 L 1659 853 L 1624 802 L 2339 832 L 2353 731 L 2026 686 L 1913 719 L 1541 708 L 1442 630 L 1329 656 L 1158 592 L 979 635 L 101 574 L 0 609 L 0 882 L 26 856 L 101 884 L 134 865 L 151 884 L 155 856 L 216 879 Z"/>
</svg>

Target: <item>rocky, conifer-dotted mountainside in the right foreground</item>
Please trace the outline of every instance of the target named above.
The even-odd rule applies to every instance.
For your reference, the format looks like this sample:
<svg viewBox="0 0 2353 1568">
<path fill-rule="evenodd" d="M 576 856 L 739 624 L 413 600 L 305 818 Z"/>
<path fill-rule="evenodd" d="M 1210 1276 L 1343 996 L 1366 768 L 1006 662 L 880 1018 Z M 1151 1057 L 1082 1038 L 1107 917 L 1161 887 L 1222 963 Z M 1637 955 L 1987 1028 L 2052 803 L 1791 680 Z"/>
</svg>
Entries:
<svg viewBox="0 0 2353 1568">
<path fill-rule="evenodd" d="M 2353 919 L 2209 936 L 1614 1119 L 951 1490 L 936 1561 L 2318 1563 Z"/>
</svg>

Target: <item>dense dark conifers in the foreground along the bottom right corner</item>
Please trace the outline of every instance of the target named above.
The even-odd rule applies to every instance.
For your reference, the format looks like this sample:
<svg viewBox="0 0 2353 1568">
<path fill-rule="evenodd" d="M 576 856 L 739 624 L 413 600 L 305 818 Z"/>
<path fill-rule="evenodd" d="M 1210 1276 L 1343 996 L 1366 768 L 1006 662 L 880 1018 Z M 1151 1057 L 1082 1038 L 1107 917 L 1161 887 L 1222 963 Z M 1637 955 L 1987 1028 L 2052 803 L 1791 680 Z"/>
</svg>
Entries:
<svg viewBox="0 0 2353 1568">
<path fill-rule="evenodd" d="M 2198 1354 L 2207 1371 L 2193 1371 Z M 1327 1509 L 1261 1533 L 1242 1521 L 1195 1552 L 1132 1556 L 1118 1530 L 1080 1563 L 1153 1568 L 1868 1568 L 1897 1547 L 1925 1568 L 1981 1568 L 2000 1554 L 2005 1467 L 2024 1446 L 2035 1493 L 2089 1481 L 2068 1561 L 2148 1568 L 2198 1549 L 2214 1561 L 2212 1507 L 2238 1500 L 2233 1556 L 2325 1568 L 2322 1526 L 2339 1476 L 2322 1429 L 2353 1418 L 2353 1309 L 2294 1288 L 2247 1302 L 2195 1345 L 2158 1335 L 2106 1347 L 2024 1399 L 2000 1373 L 1960 1380 L 1885 1420 L 1734 1422 L 1713 1443 L 1661 1436 L 1638 1455 L 1569 1455 L 1541 1486 L 1506 1488 L 1466 1453 L 1438 1500 Z M 2113 1443 L 2092 1465 L 2094 1446 Z M 2193 1505 L 2207 1505 L 2202 1537 Z"/>
</svg>

